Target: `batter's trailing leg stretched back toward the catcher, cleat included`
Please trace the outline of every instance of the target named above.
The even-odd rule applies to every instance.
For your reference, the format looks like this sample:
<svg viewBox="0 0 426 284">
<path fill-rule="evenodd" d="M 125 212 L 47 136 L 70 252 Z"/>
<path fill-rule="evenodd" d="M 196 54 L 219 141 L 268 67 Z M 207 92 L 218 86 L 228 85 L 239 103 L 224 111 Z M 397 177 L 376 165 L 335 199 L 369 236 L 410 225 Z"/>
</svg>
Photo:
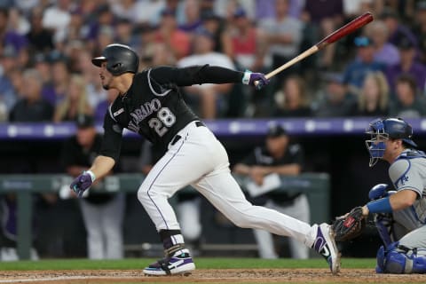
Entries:
<svg viewBox="0 0 426 284">
<path fill-rule="evenodd" d="M 216 152 L 217 156 L 222 154 L 219 148 Z M 231 175 L 226 156 L 225 162 L 193 186 L 233 224 L 242 228 L 262 229 L 301 241 L 306 246 L 315 248 L 327 259 L 331 272 L 339 271 L 340 256 L 329 226 L 311 226 L 276 210 L 253 206 L 246 200 L 240 185 Z"/>
</svg>

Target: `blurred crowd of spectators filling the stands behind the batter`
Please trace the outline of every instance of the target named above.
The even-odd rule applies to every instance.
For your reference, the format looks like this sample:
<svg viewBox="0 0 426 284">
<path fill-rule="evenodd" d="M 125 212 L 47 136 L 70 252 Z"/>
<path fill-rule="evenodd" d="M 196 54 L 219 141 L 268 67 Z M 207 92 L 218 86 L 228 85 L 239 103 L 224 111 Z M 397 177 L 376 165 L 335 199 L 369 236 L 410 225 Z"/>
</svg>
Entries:
<svg viewBox="0 0 426 284">
<path fill-rule="evenodd" d="M 98 121 L 117 95 L 91 58 L 109 43 L 140 68 L 210 64 L 268 73 L 372 12 L 375 21 L 254 91 L 182 90 L 204 119 L 426 114 L 426 1 L 2 0 L 0 122 Z"/>
</svg>

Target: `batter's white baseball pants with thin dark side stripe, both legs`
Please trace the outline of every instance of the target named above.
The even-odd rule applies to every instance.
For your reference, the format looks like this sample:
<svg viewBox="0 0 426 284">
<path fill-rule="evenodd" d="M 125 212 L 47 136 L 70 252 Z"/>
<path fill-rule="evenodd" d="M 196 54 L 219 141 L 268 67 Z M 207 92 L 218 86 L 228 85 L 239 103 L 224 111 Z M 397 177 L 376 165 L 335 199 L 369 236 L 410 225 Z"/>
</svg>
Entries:
<svg viewBox="0 0 426 284">
<path fill-rule="evenodd" d="M 289 236 L 312 247 L 318 225 L 248 202 L 231 175 L 224 146 L 207 127 L 190 122 L 177 135 L 181 138 L 169 146 L 138 189 L 138 200 L 157 231 L 180 229 L 168 199 L 193 185 L 233 224 Z"/>
</svg>

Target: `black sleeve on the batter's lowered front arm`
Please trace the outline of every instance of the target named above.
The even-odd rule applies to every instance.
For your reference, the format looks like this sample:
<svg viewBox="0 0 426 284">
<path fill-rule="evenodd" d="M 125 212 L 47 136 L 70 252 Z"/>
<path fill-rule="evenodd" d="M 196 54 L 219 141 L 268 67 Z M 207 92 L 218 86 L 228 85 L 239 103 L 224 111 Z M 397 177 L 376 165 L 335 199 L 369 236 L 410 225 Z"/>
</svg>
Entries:
<svg viewBox="0 0 426 284">
<path fill-rule="evenodd" d="M 118 162 L 122 147 L 122 127 L 114 121 L 110 109 L 108 107 L 104 118 L 104 137 L 99 154 L 111 157 L 115 162 Z"/>
</svg>

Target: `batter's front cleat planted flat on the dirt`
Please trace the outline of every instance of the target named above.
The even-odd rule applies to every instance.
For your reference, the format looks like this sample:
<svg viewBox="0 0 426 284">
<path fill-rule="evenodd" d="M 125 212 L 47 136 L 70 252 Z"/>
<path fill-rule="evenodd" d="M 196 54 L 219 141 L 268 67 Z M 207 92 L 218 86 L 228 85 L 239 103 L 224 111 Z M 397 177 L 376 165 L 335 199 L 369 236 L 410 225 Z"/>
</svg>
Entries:
<svg viewBox="0 0 426 284">
<path fill-rule="evenodd" d="M 188 253 L 182 253 L 178 256 L 164 257 L 161 260 L 150 264 L 144 269 L 146 275 L 163 276 L 163 275 L 189 275 L 195 269 L 193 257 Z"/>
</svg>

